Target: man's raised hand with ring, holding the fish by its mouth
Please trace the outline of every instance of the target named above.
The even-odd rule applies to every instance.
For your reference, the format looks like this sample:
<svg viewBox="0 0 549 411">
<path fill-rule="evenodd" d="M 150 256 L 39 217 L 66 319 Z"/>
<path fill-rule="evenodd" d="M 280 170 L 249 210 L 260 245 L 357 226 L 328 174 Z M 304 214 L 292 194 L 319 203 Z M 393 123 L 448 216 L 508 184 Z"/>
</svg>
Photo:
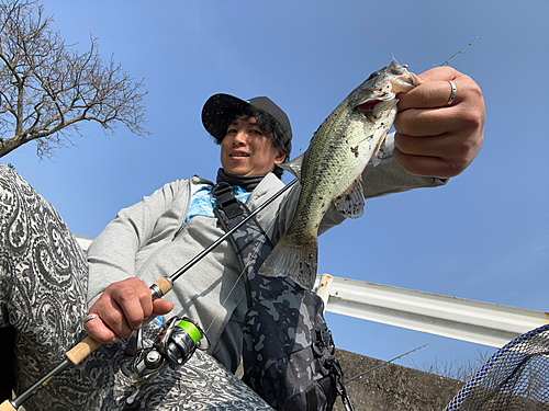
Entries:
<svg viewBox="0 0 549 411">
<path fill-rule="evenodd" d="M 451 67 L 437 67 L 416 76 L 419 85 L 399 94 L 394 122 L 395 161 L 408 173 L 451 178 L 479 153 L 484 135 L 485 109 L 479 85 Z M 445 106 L 457 88 L 456 99 Z"/>
</svg>

